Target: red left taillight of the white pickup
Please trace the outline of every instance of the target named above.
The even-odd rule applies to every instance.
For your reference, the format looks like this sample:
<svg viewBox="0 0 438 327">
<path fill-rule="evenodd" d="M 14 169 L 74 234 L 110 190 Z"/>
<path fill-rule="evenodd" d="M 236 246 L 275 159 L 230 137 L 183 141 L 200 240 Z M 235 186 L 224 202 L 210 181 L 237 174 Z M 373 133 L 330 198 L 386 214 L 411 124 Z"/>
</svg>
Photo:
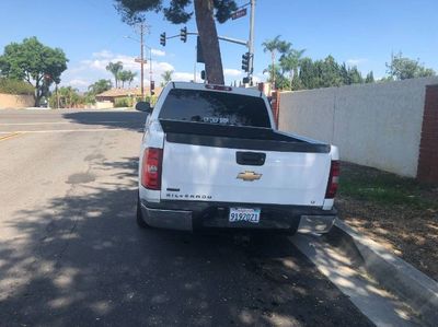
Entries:
<svg viewBox="0 0 438 327">
<path fill-rule="evenodd" d="M 148 148 L 145 150 L 141 167 L 141 185 L 149 189 L 161 189 L 161 164 L 163 150 Z"/>
</svg>

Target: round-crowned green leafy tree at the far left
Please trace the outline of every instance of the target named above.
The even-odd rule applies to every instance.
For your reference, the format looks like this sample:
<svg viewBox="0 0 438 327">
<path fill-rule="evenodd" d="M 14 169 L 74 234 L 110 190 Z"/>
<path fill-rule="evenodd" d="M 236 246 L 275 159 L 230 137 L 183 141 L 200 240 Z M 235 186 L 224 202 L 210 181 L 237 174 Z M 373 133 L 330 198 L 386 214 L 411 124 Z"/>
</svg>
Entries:
<svg viewBox="0 0 438 327">
<path fill-rule="evenodd" d="M 9 79 L 24 80 L 35 87 L 35 106 L 48 94 L 49 86 L 60 83 L 68 59 L 60 48 L 43 45 L 35 36 L 11 43 L 0 56 L 0 70 Z"/>
</svg>

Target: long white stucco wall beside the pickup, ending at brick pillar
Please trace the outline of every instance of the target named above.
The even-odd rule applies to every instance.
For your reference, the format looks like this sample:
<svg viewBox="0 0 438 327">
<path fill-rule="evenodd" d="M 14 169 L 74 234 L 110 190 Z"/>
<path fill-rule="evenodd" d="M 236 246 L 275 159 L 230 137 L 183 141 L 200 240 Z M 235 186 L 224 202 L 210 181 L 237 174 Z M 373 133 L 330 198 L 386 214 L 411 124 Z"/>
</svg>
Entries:
<svg viewBox="0 0 438 327">
<path fill-rule="evenodd" d="M 428 84 L 438 78 L 285 92 L 279 128 L 339 147 L 342 160 L 415 177 Z"/>
</svg>

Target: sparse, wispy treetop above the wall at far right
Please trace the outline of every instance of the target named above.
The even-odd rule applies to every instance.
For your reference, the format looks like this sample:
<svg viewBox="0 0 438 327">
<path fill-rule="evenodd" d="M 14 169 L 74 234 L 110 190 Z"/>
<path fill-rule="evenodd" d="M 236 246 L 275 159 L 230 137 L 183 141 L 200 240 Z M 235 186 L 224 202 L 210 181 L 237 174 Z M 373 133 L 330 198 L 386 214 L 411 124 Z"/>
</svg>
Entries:
<svg viewBox="0 0 438 327">
<path fill-rule="evenodd" d="M 419 59 L 413 60 L 403 57 L 402 52 L 391 55 L 391 62 L 387 62 L 387 72 L 395 80 L 407 80 L 415 78 L 427 78 L 436 75 L 436 72 L 430 68 L 425 68 Z"/>
</svg>

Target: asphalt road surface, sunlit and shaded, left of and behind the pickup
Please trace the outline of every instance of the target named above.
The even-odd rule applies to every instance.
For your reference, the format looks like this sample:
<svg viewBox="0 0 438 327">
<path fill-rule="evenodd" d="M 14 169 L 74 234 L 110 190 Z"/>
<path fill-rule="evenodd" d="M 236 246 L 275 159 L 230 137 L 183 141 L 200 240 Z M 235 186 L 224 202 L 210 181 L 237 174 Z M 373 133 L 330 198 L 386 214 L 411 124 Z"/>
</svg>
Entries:
<svg viewBox="0 0 438 327">
<path fill-rule="evenodd" d="M 137 112 L 0 110 L 0 326 L 370 326 L 276 235 L 139 230 Z"/>
</svg>

